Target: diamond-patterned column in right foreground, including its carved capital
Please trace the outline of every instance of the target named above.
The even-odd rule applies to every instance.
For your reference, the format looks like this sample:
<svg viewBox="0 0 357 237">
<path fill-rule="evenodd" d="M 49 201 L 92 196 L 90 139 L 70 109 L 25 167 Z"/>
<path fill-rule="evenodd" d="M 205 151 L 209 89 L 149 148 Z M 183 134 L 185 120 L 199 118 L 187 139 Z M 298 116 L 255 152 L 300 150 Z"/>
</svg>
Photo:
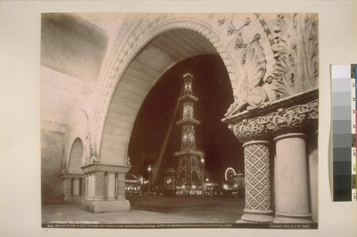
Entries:
<svg viewBox="0 0 357 237">
<path fill-rule="evenodd" d="M 243 142 L 246 205 L 237 222 L 271 222 L 271 184 L 269 142 L 264 121 L 243 120 L 232 125 L 234 135 Z"/>
</svg>

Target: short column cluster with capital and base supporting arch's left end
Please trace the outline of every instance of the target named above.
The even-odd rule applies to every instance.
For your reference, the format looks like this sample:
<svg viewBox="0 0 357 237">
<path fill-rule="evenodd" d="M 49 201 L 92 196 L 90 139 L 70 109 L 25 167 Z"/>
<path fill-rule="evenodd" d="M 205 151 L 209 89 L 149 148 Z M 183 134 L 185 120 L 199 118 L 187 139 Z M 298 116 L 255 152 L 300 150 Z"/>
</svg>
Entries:
<svg viewBox="0 0 357 237">
<path fill-rule="evenodd" d="M 130 203 L 125 198 L 125 174 L 130 166 L 91 163 L 81 167 L 88 182 L 88 197 L 81 202 L 81 209 L 99 212 L 129 211 Z M 115 177 L 121 177 L 116 181 Z M 116 184 L 117 183 L 117 184 Z M 116 196 L 117 186 L 117 196 Z"/>
</svg>

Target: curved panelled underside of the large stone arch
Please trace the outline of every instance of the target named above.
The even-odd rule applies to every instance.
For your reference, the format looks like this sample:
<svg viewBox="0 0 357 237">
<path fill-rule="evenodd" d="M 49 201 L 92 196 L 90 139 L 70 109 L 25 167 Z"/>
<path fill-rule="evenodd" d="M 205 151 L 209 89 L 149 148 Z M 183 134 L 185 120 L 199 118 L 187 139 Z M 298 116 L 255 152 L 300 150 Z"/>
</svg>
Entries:
<svg viewBox="0 0 357 237">
<path fill-rule="evenodd" d="M 177 63 L 207 54 L 218 52 L 200 33 L 183 28 L 161 33 L 139 51 L 119 79 L 111 100 L 101 142 L 101 162 L 125 164 L 136 115 L 156 81 Z"/>
</svg>

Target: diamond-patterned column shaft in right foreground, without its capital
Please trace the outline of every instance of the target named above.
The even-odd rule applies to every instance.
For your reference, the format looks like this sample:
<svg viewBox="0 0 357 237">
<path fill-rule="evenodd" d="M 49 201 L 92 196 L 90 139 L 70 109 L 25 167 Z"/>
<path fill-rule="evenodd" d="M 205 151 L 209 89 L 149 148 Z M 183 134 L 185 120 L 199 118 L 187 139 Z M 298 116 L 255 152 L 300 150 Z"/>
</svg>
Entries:
<svg viewBox="0 0 357 237">
<path fill-rule="evenodd" d="M 243 221 L 271 222 L 269 142 L 251 141 L 243 144 L 244 172 L 246 179 L 246 206 Z"/>
</svg>

